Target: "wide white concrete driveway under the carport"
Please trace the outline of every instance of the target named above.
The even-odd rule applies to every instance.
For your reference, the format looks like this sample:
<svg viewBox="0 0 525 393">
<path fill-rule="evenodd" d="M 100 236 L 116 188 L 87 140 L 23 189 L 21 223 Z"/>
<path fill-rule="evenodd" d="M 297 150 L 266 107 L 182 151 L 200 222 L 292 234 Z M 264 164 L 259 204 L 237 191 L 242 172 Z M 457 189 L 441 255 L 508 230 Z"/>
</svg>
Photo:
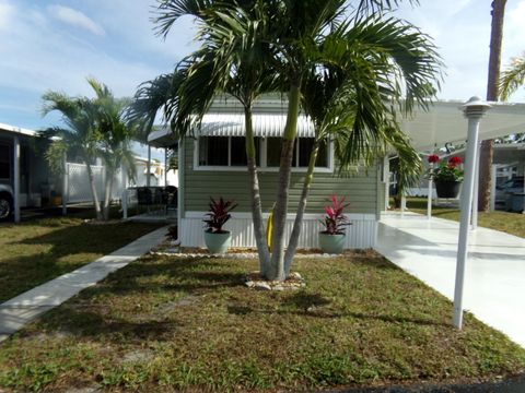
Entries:
<svg viewBox="0 0 525 393">
<path fill-rule="evenodd" d="M 380 253 L 454 298 L 459 223 L 405 213 L 380 223 Z M 464 307 L 525 347 L 525 239 L 480 228 L 470 231 Z M 453 309 L 451 307 L 451 323 Z"/>
</svg>

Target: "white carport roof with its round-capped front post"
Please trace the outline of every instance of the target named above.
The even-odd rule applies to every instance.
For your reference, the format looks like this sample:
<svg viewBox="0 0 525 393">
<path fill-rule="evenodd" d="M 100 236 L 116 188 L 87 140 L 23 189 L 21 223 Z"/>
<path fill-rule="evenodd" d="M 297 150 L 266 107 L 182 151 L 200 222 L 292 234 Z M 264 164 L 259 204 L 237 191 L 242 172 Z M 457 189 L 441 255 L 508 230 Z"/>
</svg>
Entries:
<svg viewBox="0 0 525 393">
<path fill-rule="evenodd" d="M 490 114 L 481 121 L 489 108 Z M 468 119 L 468 127 L 466 127 L 467 121 L 458 109 L 463 110 Z M 442 146 L 445 143 L 454 144 L 467 141 L 465 181 L 460 198 L 462 218 L 457 246 L 453 318 L 454 325 L 460 329 L 463 324 L 465 264 L 468 255 L 468 231 L 471 212 L 477 212 L 477 206 L 472 209 L 472 194 L 477 192 L 478 140 L 504 136 L 525 130 L 525 105 L 500 103 L 490 103 L 489 105 L 477 97 L 470 98 L 464 105 L 459 102 L 439 102 L 428 112 L 418 110 L 415 117 L 405 120 L 401 127 L 410 135 L 413 146 L 419 151 L 432 152 L 436 146 Z M 429 192 L 428 198 L 430 200 L 431 192 Z M 429 202 L 429 209 L 430 206 Z M 476 227 L 476 222 L 474 224 L 474 227 Z"/>
</svg>

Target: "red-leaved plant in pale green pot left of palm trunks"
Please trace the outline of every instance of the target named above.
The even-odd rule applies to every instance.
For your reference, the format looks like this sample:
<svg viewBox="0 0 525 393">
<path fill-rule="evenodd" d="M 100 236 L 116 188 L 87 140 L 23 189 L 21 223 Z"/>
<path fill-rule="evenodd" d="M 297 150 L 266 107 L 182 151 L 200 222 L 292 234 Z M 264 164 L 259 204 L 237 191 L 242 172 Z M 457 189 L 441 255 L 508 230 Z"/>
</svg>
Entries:
<svg viewBox="0 0 525 393">
<path fill-rule="evenodd" d="M 224 253 L 228 251 L 232 240 L 232 234 L 229 230 L 222 229 L 223 225 L 232 217 L 230 212 L 234 210 L 237 204 L 233 201 L 224 201 L 222 196 L 215 201 L 210 196 L 210 210 L 203 219 L 205 227 L 205 243 L 211 253 Z"/>
</svg>

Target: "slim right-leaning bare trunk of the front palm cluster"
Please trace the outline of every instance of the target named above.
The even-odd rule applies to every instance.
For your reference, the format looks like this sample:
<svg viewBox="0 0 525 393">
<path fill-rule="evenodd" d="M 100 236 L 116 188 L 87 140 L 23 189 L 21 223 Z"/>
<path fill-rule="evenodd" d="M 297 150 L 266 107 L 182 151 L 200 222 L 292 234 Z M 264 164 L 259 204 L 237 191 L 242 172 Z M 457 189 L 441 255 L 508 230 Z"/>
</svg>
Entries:
<svg viewBox="0 0 525 393">
<path fill-rule="evenodd" d="M 319 140 L 315 140 L 312 152 L 310 153 L 308 169 L 303 182 L 303 190 L 301 192 L 301 199 L 299 200 L 298 213 L 295 214 L 295 221 L 293 222 L 292 235 L 288 242 L 287 252 L 284 253 L 284 273 L 288 276 L 290 269 L 292 267 L 293 257 L 298 249 L 299 236 L 303 226 L 304 211 L 306 210 L 306 201 L 308 199 L 310 188 L 314 179 L 315 162 L 317 160 L 317 153 L 319 152 Z"/>
</svg>

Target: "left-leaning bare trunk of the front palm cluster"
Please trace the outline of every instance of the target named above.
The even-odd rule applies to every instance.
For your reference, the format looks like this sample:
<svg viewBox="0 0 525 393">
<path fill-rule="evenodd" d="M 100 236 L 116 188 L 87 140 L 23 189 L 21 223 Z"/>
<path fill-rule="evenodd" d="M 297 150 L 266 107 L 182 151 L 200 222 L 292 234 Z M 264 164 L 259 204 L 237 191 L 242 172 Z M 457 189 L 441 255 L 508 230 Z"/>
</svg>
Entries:
<svg viewBox="0 0 525 393">
<path fill-rule="evenodd" d="M 246 123 L 246 157 L 248 160 L 248 174 L 250 180 L 252 196 L 252 219 L 254 222 L 255 242 L 259 253 L 259 272 L 261 276 L 266 276 L 270 264 L 270 252 L 265 236 L 265 227 L 262 221 L 262 206 L 260 202 L 259 179 L 257 174 L 257 158 L 254 141 L 254 127 L 252 122 L 252 108 L 245 108 L 244 119 Z"/>
</svg>

